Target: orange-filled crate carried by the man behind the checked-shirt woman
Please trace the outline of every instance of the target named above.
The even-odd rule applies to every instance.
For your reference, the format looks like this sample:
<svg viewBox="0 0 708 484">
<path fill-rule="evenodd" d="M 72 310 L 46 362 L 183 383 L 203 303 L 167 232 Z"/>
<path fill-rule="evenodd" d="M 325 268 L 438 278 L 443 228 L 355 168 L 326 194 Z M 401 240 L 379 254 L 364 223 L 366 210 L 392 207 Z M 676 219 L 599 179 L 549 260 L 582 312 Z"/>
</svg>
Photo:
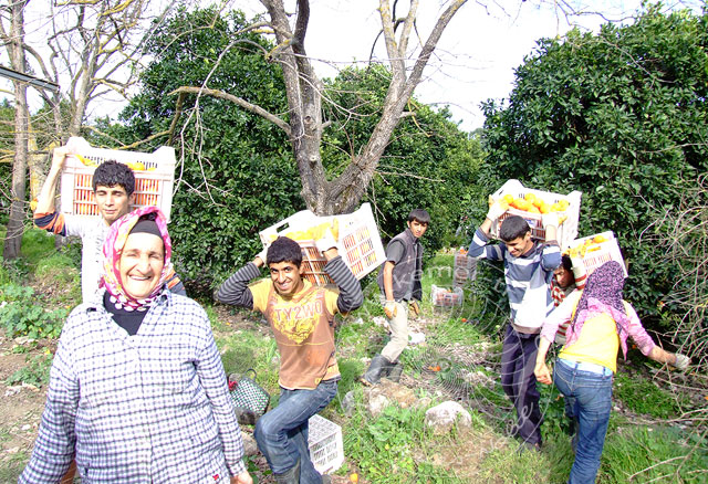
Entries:
<svg viewBox="0 0 708 484">
<path fill-rule="evenodd" d="M 169 220 L 175 186 L 175 148 L 163 146 L 155 152 L 122 151 L 117 149 L 92 148 L 86 146 L 79 155 L 93 164 L 115 160 L 122 164 L 142 162 L 145 170 L 134 170 L 135 199 L 132 209 L 155 206 Z M 85 217 L 98 217 L 98 207 L 93 194 L 93 172 L 95 166 L 86 166 L 75 156 L 67 156 L 62 171 L 61 211 Z"/>
</svg>

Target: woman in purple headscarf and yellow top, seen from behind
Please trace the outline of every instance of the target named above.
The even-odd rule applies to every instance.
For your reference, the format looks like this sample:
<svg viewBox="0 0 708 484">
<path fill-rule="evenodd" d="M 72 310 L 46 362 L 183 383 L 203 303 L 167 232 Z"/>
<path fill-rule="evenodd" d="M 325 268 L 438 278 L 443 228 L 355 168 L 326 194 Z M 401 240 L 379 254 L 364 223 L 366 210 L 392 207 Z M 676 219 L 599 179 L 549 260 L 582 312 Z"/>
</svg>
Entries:
<svg viewBox="0 0 708 484">
<path fill-rule="evenodd" d="M 583 291 L 569 295 L 543 323 L 534 373 L 550 385 L 545 355 L 560 325 L 570 322 L 565 346 L 555 361 L 553 382 L 569 399 L 575 422 L 575 462 L 570 484 L 594 483 L 612 409 L 612 381 L 618 349 L 627 356 L 627 337 L 650 359 L 685 370 L 690 359 L 654 344 L 629 303 L 623 299 L 620 263 L 607 262 L 593 272 Z"/>
</svg>

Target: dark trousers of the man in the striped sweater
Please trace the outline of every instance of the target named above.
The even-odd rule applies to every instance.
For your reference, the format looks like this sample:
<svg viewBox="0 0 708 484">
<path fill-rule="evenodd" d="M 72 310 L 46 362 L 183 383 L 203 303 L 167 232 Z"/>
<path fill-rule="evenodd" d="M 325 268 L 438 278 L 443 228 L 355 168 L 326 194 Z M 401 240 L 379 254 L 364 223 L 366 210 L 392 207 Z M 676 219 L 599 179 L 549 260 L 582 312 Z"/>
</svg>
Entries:
<svg viewBox="0 0 708 484">
<path fill-rule="evenodd" d="M 539 335 L 518 333 L 511 324 L 507 327 L 501 353 L 501 386 L 517 409 L 516 434 L 524 442 L 541 443 L 541 409 L 535 388 L 535 355 Z"/>
</svg>

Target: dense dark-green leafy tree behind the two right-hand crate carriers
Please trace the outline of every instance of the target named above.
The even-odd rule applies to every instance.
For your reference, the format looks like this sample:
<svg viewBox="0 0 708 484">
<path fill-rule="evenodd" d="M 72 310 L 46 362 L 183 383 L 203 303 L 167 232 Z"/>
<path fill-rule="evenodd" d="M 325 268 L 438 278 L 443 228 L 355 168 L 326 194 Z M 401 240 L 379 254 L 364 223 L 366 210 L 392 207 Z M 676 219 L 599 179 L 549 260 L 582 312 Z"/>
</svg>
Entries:
<svg viewBox="0 0 708 484">
<path fill-rule="evenodd" d="M 649 7 L 631 25 L 543 39 L 517 69 L 508 103 L 483 107 L 487 191 L 509 178 L 581 190 L 580 234 L 615 231 L 629 262 L 625 295 L 645 316 L 656 316 L 677 273 L 639 242 L 649 208 L 676 204 L 684 180 L 708 169 L 707 23 L 706 13 Z"/>
</svg>

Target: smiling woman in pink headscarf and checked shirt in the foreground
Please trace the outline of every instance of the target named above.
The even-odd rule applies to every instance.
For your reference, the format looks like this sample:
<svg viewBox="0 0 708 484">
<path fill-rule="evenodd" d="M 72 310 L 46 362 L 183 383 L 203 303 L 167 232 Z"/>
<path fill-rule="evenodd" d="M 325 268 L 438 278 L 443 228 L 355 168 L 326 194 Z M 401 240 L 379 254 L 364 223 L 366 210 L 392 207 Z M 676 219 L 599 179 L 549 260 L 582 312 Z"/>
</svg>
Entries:
<svg viewBox="0 0 708 484">
<path fill-rule="evenodd" d="M 100 297 L 69 316 L 20 483 L 246 483 L 243 446 L 205 311 L 169 292 L 156 207 L 111 225 Z"/>
</svg>

